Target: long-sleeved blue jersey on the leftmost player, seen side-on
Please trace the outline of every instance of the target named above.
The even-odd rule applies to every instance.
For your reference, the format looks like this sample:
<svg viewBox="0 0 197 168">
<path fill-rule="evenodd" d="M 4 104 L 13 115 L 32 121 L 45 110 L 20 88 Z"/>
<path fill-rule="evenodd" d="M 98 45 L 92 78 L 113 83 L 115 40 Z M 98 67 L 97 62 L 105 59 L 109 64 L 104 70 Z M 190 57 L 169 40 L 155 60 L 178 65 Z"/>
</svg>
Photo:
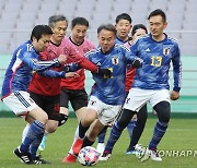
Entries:
<svg viewBox="0 0 197 168">
<path fill-rule="evenodd" d="M 59 65 L 59 61 L 39 61 L 39 55 L 35 51 L 32 41 L 21 45 L 13 53 L 7 69 L 2 85 L 2 97 L 14 91 L 27 91 L 33 71 L 44 71 L 50 67 Z"/>
</svg>

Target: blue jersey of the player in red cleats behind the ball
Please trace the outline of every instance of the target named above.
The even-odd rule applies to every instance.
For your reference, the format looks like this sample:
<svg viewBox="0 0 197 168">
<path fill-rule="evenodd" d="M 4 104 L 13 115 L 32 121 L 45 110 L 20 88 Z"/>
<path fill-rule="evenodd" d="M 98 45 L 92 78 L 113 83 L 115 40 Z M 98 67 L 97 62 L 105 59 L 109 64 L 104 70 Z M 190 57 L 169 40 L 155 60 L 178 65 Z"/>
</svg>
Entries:
<svg viewBox="0 0 197 168">
<path fill-rule="evenodd" d="M 131 63 L 129 49 L 116 44 L 111 51 L 103 53 L 101 48 L 91 50 L 85 57 L 101 69 L 109 69 L 112 77 L 105 79 L 93 73 L 95 81 L 91 95 L 107 105 L 123 105 L 125 100 L 125 74 L 127 63 Z"/>
</svg>

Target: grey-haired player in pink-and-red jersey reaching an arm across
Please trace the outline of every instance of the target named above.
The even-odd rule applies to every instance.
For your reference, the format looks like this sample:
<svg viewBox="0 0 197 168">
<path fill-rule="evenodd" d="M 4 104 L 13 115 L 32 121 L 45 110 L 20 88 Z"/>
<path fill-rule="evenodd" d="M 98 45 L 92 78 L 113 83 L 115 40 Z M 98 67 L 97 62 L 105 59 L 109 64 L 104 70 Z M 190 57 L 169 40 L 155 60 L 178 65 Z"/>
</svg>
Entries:
<svg viewBox="0 0 197 168">
<path fill-rule="evenodd" d="M 63 15 L 53 15 L 48 20 L 48 25 L 51 27 L 54 34 L 51 35 L 49 46 L 40 53 L 42 60 L 51 60 L 58 58 L 59 55 L 67 55 L 67 63 L 70 60 L 79 63 L 92 72 L 97 71 L 97 67 L 90 62 L 82 56 L 76 55 L 76 50 L 68 51 L 67 38 L 65 38 L 68 22 Z M 70 49 L 71 50 L 71 49 Z M 63 77 L 79 77 L 78 73 L 62 73 L 62 68 L 56 68 L 48 70 L 47 74 L 35 73 L 30 84 L 28 92 L 31 97 L 39 105 L 48 115 L 48 122 L 45 130 L 45 136 L 39 145 L 39 151 L 45 149 L 45 142 L 48 133 L 53 133 L 57 130 L 58 124 L 61 125 L 67 120 L 67 116 L 59 115 L 59 101 L 60 101 L 60 82 Z M 53 77 L 53 79 L 51 79 Z M 24 129 L 23 134 L 28 130 L 28 127 Z"/>
</svg>

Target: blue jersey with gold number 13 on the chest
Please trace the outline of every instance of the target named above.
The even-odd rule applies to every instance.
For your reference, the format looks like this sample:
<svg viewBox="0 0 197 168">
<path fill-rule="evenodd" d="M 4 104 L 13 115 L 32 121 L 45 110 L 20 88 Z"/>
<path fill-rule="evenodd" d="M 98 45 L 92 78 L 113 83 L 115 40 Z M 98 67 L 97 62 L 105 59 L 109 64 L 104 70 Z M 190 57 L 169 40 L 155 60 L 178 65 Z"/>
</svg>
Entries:
<svg viewBox="0 0 197 168">
<path fill-rule="evenodd" d="M 139 37 L 131 46 L 131 55 L 143 60 L 141 69 L 136 70 L 132 87 L 142 89 L 170 89 L 169 70 L 171 61 L 174 74 L 174 91 L 181 89 L 181 57 L 179 48 L 175 39 L 167 37 L 162 41 L 155 41 L 152 36 Z"/>
</svg>

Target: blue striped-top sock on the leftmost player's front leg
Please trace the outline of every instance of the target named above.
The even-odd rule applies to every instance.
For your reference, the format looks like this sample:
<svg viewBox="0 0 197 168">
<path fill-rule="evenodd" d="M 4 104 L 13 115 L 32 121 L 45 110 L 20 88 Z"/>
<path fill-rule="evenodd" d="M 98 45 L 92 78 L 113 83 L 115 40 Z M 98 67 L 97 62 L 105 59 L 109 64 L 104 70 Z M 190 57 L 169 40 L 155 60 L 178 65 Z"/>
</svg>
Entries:
<svg viewBox="0 0 197 168">
<path fill-rule="evenodd" d="M 22 153 L 27 152 L 30 148 L 30 145 L 33 143 L 34 140 L 37 139 L 40 134 L 44 133 L 44 127 L 45 124 L 39 121 L 34 121 L 30 125 L 27 135 L 25 136 L 23 143 L 21 144 L 20 151 Z"/>
</svg>

